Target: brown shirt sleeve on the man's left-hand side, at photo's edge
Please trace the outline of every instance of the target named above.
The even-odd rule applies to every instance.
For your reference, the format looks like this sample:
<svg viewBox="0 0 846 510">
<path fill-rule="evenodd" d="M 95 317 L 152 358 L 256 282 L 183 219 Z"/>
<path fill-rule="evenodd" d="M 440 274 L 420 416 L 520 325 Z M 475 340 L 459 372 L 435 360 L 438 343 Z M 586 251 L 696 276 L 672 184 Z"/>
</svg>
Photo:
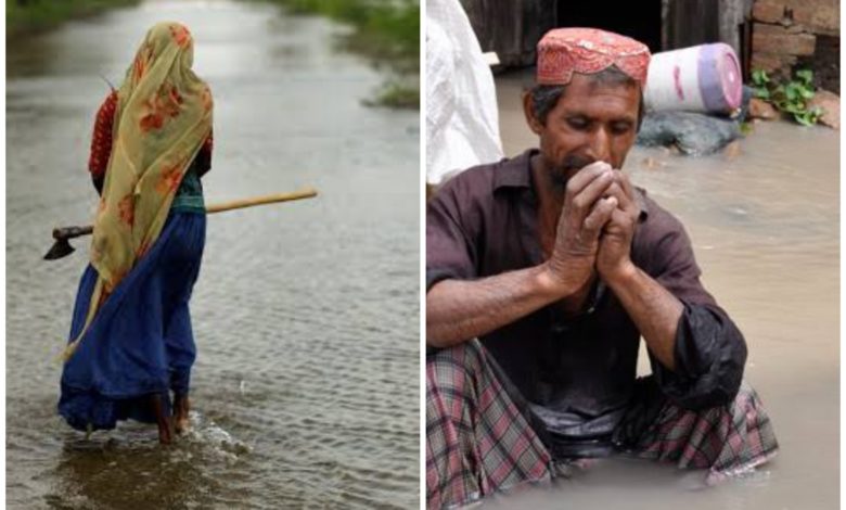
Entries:
<svg viewBox="0 0 846 510">
<path fill-rule="evenodd" d="M 470 197 L 457 179 L 426 204 L 426 292 L 443 280 L 476 278 L 476 250 Z"/>
</svg>

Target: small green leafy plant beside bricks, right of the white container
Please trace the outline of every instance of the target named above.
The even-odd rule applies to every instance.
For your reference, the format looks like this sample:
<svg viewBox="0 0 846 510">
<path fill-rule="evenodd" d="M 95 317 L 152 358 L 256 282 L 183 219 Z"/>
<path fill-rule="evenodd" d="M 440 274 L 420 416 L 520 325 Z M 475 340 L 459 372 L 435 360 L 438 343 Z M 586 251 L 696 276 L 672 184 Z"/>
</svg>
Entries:
<svg viewBox="0 0 846 510">
<path fill-rule="evenodd" d="M 822 115 L 822 109 L 819 106 L 808 106 L 808 101 L 813 98 L 813 72 L 810 69 L 797 71 L 793 79 L 780 82 L 771 79 L 766 71 L 754 69 L 752 88 L 756 98 L 793 115 L 803 126 L 817 124 Z"/>
</svg>

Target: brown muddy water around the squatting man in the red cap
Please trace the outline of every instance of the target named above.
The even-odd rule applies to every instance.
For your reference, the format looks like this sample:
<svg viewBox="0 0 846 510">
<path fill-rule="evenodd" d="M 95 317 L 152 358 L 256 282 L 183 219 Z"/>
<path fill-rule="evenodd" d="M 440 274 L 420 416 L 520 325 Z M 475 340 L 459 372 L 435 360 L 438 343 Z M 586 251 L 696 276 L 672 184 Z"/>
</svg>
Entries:
<svg viewBox="0 0 846 510">
<path fill-rule="evenodd" d="M 497 79 L 508 155 L 537 143 L 520 103 L 526 79 Z M 705 285 L 744 332 L 746 379 L 781 443 L 776 460 L 704 487 L 702 472 L 605 459 L 569 479 L 496 496 L 484 508 L 838 508 L 837 135 L 757 124 L 734 153 L 685 157 L 634 148 L 624 165 L 636 184 L 683 221 Z M 648 373 L 648 364 L 640 371 Z"/>
</svg>

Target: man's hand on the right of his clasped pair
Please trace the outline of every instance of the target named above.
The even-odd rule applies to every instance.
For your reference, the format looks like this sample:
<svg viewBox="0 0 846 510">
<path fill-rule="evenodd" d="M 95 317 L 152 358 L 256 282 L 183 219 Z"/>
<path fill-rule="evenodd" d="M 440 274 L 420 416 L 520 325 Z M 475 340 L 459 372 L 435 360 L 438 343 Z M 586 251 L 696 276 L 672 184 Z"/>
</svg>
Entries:
<svg viewBox="0 0 846 510">
<path fill-rule="evenodd" d="M 631 181 L 621 171 L 614 173 L 614 184 L 608 193 L 617 199 L 618 206 L 612 212 L 599 241 L 597 270 L 605 282 L 625 277 L 634 269 L 630 258 L 631 240 L 640 214 Z"/>
</svg>

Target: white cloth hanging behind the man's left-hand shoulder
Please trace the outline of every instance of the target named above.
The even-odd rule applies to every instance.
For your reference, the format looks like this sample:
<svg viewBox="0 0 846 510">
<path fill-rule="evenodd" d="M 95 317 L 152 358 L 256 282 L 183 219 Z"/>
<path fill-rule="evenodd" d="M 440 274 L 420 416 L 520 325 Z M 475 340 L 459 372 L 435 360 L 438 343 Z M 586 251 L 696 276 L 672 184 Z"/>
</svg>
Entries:
<svg viewBox="0 0 846 510">
<path fill-rule="evenodd" d="M 426 0 L 426 182 L 503 157 L 493 75 L 459 0 Z"/>
</svg>

